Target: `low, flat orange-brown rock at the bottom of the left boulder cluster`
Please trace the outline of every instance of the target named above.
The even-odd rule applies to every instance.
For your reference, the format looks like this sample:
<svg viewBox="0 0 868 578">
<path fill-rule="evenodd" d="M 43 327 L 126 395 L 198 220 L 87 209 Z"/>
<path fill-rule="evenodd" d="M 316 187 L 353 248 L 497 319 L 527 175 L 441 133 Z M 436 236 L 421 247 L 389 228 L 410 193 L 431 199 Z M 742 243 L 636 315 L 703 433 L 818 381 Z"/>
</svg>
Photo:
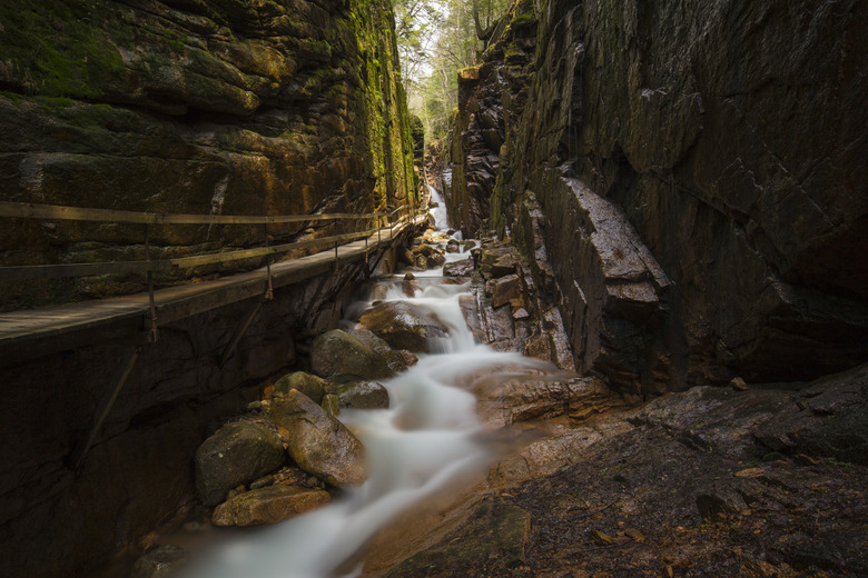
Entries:
<svg viewBox="0 0 868 578">
<path fill-rule="evenodd" d="M 260 526 L 277 524 L 332 501 L 325 490 L 300 486 L 269 486 L 245 491 L 217 506 L 216 526 Z"/>
</svg>

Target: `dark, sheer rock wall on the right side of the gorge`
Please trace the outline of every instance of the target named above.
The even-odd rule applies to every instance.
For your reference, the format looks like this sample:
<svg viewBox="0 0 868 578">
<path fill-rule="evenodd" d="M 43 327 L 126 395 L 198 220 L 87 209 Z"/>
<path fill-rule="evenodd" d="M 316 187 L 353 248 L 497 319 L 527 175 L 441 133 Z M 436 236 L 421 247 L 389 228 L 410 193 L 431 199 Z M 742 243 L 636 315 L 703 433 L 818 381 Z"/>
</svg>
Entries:
<svg viewBox="0 0 868 578">
<path fill-rule="evenodd" d="M 519 119 L 500 127 L 493 223 L 535 261 L 576 365 L 625 391 L 864 361 L 868 10 L 664 4 L 531 11 L 527 101 L 493 104 Z M 504 78 L 509 51 L 487 57 L 480 77 Z"/>
</svg>

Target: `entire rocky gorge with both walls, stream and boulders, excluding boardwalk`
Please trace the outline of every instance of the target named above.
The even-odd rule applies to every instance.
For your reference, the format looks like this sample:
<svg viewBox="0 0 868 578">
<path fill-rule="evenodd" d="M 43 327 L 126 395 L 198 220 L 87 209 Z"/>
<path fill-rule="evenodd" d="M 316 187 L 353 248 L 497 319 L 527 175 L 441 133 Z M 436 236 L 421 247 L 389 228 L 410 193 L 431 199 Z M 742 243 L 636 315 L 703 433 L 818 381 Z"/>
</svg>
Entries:
<svg viewBox="0 0 868 578">
<path fill-rule="evenodd" d="M 365 253 L 257 301 L 228 359 L 254 300 L 160 328 L 78 467 L 128 347 L 0 357 L 0 574 L 868 574 L 868 14 L 670 4 L 515 2 L 428 148 L 454 228 L 433 216 L 376 272 Z M 7 2 L 0 197 L 412 205 L 391 19 Z M 160 255 L 263 241 L 151 232 Z M 140 233 L 14 221 L 0 246 L 8 265 L 115 259 Z M 141 281 L 9 285 L 2 306 Z"/>
</svg>

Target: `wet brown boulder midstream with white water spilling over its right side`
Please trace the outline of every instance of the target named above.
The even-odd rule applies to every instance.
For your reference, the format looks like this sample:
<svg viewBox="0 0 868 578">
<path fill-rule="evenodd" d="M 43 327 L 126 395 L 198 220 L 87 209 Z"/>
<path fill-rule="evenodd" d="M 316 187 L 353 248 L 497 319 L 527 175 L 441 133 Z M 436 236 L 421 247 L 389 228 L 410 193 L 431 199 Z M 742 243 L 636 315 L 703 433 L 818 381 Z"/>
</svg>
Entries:
<svg viewBox="0 0 868 578">
<path fill-rule="evenodd" d="M 427 353 L 428 339 L 446 337 L 448 328 L 434 311 L 407 301 L 385 301 L 362 315 L 359 322 L 396 349 Z"/>
</svg>

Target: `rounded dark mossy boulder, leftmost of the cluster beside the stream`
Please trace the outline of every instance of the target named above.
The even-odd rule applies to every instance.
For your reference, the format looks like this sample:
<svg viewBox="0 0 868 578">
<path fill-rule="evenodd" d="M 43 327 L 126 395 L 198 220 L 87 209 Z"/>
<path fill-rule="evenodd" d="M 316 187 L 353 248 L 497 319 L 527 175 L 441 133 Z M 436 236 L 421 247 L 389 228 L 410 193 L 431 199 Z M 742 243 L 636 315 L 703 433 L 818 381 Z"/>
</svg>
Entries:
<svg viewBox="0 0 868 578">
<path fill-rule="evenodd" d="M 277 469 L 284 459 L 283 441 L 273 429 L 254 421 L 227 423 L 196 450 L 199 498 L 214 506 L 227 491 Z"/>
</svg>

